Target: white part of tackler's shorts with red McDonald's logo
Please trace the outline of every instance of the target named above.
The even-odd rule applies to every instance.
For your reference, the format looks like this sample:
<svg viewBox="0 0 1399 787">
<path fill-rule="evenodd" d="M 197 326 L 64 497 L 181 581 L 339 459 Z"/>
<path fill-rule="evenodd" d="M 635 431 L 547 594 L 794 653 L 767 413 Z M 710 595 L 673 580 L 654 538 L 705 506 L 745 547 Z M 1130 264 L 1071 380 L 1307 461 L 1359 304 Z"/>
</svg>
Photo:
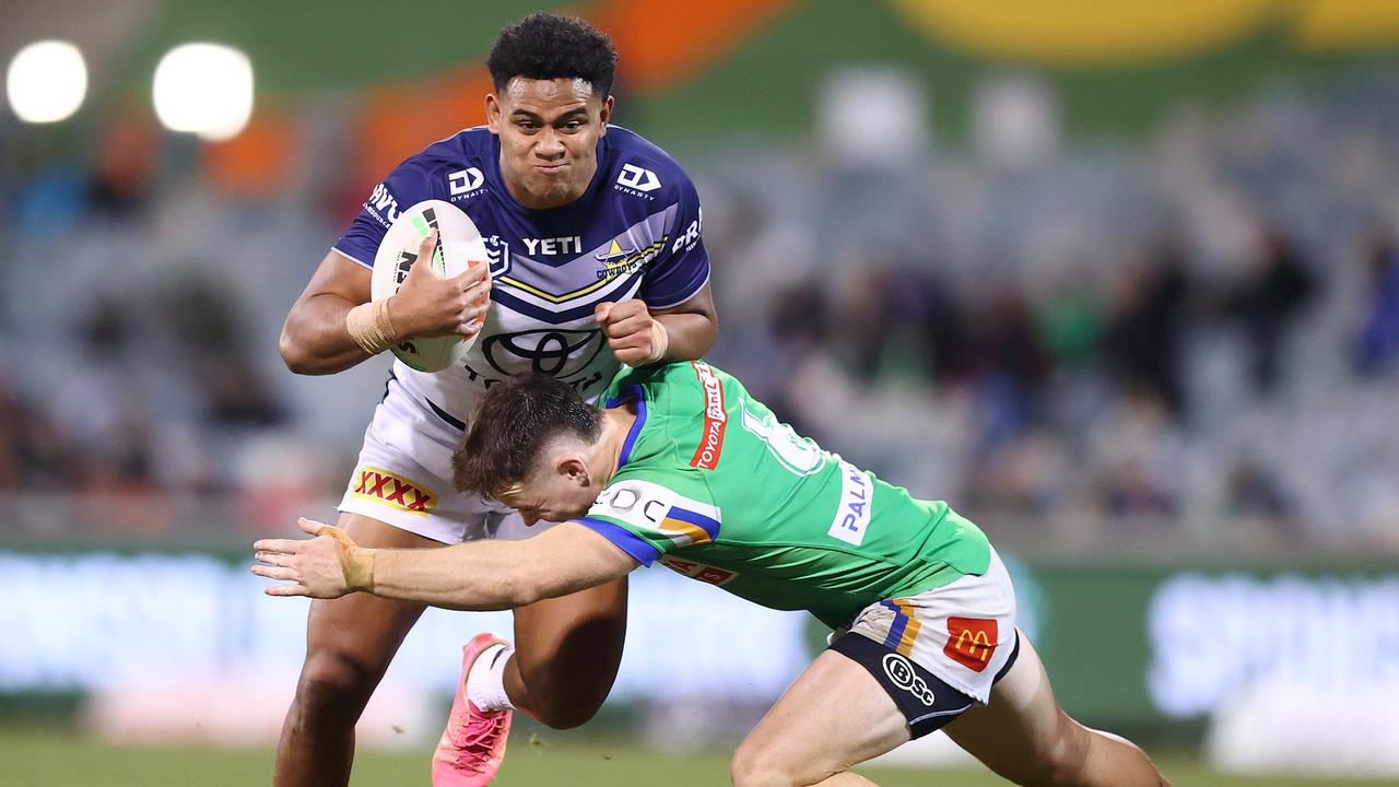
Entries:
<svg viewBox="0 0 1399 787">
<path fill-rule="evenodd" d="M 1016 591 L 992 549 L 985 574 L 872 604 L 855 616 L 849 630 L 986 704 L 992 683 L 1016 650 Z"/>
</svg>

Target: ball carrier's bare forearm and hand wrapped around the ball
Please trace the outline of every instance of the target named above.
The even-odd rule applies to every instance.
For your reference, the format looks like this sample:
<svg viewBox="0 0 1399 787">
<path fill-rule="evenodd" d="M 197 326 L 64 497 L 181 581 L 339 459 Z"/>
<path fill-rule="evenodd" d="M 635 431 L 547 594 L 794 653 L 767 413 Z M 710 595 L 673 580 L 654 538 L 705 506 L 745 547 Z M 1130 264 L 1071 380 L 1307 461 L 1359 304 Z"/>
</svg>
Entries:
<svg viewBox="0 0 1399 787">
<path fill-rule="evenodd" d="M 435 234 L 422 239 L 418 259 L 431 258 Z M 371 272 L 339 252 L 329 252 L 305 291 L 291 305 L 278 350 L 297 374 L 334 374 L 372 357 L 350 333 L 350 309 L 369 302 Z M 386 335 L 392 340 L 470 336 L 481 328 L 490 301 L 484 266 L 445 279 L 431 265 L 413 265 L 399 293 L 389 298 Z M 381 347 L 382 349 L 382 347 Z"/>
</svg>

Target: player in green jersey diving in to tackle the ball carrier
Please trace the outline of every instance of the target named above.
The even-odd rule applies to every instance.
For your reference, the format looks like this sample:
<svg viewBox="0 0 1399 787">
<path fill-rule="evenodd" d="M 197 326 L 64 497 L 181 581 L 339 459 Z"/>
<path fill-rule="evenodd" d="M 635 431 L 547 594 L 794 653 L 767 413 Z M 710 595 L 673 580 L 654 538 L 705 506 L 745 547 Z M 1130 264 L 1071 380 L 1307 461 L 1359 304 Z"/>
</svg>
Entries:
<svg viewBox="0 0 1399 787">
<path fill-rule="evenodd" d="M 504 609 L 660 562 L 835 630 L 739 746 L 737 786 L 869 784 L 848 769 L 943 727 L 1017 784 L 1165 784 L 1142 749 L 1059 709 L 1000 559 L 946 503 L 823 451 L 704 363 L 624 370 L 604 401 L 502 384 L 453 458 L 460 489 L 562 525 L 406 552 L 302 520 L 320 535 L 257 542 L 253 573 L 292 583 L 270 595 Z"/>
</svg>

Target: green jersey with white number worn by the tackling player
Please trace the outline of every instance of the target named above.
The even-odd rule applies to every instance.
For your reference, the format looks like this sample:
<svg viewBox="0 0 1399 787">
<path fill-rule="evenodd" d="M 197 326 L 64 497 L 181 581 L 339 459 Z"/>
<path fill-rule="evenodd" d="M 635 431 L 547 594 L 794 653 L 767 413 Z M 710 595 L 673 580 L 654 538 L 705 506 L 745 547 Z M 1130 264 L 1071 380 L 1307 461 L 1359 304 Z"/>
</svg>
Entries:
<svg viewBox="0 0 1399 787">
<path fill-rule="evenodd" d="M 617 473 L 579 522 L 645 566 L 831 627 L 986 571 L 977 525 L 823 451 L 712 365 L 624 367 L 603 402 L 628 399 Z"/>
</svg>

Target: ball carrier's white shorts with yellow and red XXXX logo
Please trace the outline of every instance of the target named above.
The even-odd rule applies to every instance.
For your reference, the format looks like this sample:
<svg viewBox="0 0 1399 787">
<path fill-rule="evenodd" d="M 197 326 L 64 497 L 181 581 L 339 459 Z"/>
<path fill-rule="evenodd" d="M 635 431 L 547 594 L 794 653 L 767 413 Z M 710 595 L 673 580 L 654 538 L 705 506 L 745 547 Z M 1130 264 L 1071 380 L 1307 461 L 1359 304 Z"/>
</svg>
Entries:
<svg viewBox="0 0 1399 787">
<path fill-rule="evenodd" d="M 462 429 L 420 399 L 389 377 L 383 401 L 364 433 L 364 448 L 340 511 L 442 543 L 520 539 L 547 529 L 550 522 L 526 527 L 515 510 L 452 487 L 452 452 Z"/>
</svg>

